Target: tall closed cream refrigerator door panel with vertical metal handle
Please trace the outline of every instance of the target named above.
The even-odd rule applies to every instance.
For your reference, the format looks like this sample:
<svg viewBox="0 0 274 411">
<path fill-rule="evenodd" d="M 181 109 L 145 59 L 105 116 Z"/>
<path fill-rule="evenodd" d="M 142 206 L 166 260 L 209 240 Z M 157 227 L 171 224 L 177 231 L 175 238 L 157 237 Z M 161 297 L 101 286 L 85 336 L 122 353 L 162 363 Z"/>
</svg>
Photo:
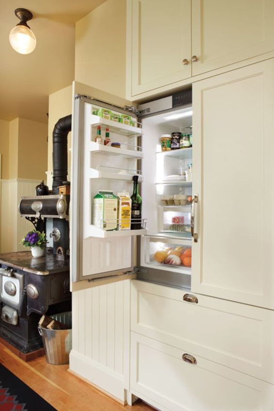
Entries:
<svg viewBox="0 0 274 411">
<path fill-rule="evenodd" d="M 274 59 L 193 85 L 193 292 L 274 309 Z"/>
</svg>

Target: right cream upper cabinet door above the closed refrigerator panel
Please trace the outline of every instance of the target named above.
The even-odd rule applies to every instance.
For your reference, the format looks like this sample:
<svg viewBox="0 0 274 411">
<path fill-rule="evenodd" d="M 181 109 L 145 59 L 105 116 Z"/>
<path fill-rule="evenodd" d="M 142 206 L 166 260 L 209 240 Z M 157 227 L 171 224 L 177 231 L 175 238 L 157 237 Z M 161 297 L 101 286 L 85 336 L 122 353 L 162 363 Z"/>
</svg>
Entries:
<svg viewBox="0 0 274 411">
<path fill-rule="evenodd" d="M 192 75 L 273 51 L 273 21 L 273 0 L 192 0 Z"/>
</svg>

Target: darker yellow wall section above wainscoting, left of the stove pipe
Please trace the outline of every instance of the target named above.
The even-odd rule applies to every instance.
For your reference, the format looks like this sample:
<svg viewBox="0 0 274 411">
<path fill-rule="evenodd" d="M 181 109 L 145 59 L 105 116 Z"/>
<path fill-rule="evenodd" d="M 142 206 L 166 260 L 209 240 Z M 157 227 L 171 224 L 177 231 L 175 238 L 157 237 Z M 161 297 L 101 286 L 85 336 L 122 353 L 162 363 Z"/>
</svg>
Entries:
<svg viewBox="0 0 274 411">
<path fill-rule="evenodd" d="M 18 119 L 17 178 L 46 180 L 48 124 Z"/>
</svg>

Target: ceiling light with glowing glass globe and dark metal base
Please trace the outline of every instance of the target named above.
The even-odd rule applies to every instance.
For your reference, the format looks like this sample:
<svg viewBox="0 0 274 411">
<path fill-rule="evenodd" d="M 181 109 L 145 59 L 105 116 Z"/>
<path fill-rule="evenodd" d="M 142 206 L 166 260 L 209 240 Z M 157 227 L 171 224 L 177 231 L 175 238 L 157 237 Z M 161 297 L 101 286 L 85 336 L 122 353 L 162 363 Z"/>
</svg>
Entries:
<svg viewBox="0 0 274 411">
<path fill-rule="evenodd" d="M 16 9 L 16 17 L 19 18 L 18 23 L 10 32 L 10 43 L 12 48 L 20 54 L 29 54 L 34 51 L 36 46 L 36 38 L 27 21 L 33 18 L 33 14 L 27 9 Z"/>
</svg>

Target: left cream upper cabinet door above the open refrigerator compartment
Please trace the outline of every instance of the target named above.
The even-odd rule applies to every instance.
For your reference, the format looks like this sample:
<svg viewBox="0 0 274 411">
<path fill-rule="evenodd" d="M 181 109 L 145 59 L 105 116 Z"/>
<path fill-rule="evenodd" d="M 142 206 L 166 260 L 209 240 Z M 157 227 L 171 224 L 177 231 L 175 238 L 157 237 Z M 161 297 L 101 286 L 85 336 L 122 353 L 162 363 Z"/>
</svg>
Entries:
<svg viewBox="0 0 274 411">
<path fill-rule="evenodd" d="M 190 77 L 191 0 L 128 0 L 127 7 L 132 96 Z"/>
</svg>

